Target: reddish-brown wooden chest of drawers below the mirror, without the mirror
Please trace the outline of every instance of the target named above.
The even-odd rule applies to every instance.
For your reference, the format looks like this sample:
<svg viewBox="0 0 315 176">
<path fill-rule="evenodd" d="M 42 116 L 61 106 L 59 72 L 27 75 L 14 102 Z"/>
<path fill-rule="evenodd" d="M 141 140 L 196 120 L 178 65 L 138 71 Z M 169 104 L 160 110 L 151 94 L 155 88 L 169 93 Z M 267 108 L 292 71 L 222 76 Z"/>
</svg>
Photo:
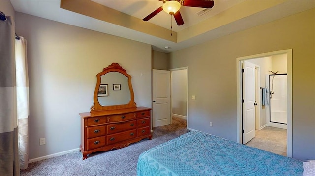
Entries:
<svg viewBox="0 0 315 176">
<path fill-rule="evenodd" d="M 151 139 L 150 114 L 147 107 L 80 113 L 83 159 L 96 151 L 120 149 Z"/>
</svg>

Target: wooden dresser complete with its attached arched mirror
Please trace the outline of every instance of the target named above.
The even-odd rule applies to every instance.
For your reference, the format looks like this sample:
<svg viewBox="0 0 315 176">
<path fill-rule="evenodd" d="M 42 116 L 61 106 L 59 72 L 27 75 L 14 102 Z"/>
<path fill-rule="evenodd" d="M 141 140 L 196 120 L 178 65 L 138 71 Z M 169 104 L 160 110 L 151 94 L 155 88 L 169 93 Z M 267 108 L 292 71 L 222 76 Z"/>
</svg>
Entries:
<svg viewBox="0 0 315 176">
<path fill-rule="evenodd" d="M 127 71 L 112 63 L 96 78 L 91 111 L 79 113 L 83 159 L 96 151 L 120 149 L 151 139 L 151 108 L 137 107 Z"/>
</svg>

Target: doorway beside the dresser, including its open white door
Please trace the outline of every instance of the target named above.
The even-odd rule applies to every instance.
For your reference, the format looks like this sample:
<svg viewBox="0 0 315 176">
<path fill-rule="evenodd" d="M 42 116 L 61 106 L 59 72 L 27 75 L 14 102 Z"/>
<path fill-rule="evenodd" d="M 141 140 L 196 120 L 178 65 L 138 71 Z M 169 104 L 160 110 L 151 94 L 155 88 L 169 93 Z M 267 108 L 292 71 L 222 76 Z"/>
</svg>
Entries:
<svg viewBox="0 0 315 176">
<path fill-rule="evenodd" d="M 188 67 L 152 69 L 152 128 L 178 124 L 187 129 L 188 119 Z"/>
</svg>

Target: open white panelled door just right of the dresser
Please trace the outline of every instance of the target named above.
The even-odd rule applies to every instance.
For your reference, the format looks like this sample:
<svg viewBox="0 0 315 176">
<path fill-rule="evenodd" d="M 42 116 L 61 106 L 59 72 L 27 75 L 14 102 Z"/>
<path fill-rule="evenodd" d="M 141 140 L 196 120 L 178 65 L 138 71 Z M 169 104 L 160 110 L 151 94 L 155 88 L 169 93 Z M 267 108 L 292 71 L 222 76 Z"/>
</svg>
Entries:
<svg viewBox="0 0 315 176">
<path fill-rule="evenodd" d="M 170 73 L 168 70 L 152 70 L 152 127 L 171 123 Z"/>
</svg>

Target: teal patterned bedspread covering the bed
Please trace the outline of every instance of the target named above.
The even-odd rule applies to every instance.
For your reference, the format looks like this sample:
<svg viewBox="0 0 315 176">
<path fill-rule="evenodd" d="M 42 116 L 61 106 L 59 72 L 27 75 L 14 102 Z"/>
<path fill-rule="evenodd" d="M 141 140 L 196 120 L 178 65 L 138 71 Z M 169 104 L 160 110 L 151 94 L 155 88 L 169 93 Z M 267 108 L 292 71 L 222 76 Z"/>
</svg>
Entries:
<svg viewBox="0 0 315 176">
<path fill-rule="evenodd" d="M 303 162 L 202 132 L 143 152 L 137 176 L 302 176 Z"/>
</svg>

